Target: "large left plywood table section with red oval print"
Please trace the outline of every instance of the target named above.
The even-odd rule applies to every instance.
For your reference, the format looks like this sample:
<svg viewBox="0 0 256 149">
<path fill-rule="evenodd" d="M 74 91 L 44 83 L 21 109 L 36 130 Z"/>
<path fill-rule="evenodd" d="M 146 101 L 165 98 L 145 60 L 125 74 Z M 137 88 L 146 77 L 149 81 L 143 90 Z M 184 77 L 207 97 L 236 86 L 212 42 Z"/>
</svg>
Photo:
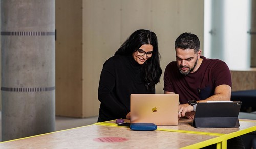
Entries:
<svg viewBox="0 0 256 149">
<path fill-rule="evenodd" d="M 216 136 L 89 125 L 0 143 L 0 148 L 182 148 Z M 194 138 L 194 139 L 191 139 Z"/>
</svg>

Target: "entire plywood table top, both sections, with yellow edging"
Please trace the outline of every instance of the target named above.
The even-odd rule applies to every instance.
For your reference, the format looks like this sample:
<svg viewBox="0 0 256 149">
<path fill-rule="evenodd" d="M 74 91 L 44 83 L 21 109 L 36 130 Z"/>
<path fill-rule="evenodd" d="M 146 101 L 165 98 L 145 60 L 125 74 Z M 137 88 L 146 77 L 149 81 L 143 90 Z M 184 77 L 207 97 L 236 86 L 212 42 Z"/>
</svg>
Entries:
<svg viewBox="0 0 256 149">
<path fill-rule="evenodd" d="M 158 126 L 156 131 L 133 131 L 129 127 L 117 127 L 114 121 L 109 121 L 103 125 L 97 123 L 1 142 L 0 148 L 199 148 L 221 142 L 230 134 L 256 130 L 256 121 L 251 120 L 240 120 L 239 128 L 225 129 L 196 129 L 190 122 L 181 119 L 177 126 Z M 246 131 L 249 128 L 253 129 Z"/>
</svg>

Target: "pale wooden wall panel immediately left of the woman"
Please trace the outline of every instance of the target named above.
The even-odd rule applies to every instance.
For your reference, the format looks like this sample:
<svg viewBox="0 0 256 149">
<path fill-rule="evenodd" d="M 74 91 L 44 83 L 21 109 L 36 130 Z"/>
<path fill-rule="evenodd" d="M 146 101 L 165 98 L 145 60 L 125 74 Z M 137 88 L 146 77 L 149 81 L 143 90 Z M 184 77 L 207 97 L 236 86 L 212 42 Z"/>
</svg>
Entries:
<svg viewBox="0 0 256 149">
<path fill-rule="evenodd" d="M 121 2 L 83 1 L 83 116 L 98 115 L 103 63 L 120 46 Z"/>
</svg>

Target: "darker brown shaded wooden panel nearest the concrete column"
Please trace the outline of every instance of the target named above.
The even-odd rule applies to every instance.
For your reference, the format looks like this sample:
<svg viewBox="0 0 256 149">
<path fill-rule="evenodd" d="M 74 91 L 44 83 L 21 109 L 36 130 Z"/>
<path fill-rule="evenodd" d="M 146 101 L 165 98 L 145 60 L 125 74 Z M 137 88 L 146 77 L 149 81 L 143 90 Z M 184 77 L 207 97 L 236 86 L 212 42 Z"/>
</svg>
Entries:
<svg viewBox="0 0 256 149">
<path fill-rule="evenodd" d="M 56 115 L 82 117 L 82 0 L 56 0 Z"/>
</svg>

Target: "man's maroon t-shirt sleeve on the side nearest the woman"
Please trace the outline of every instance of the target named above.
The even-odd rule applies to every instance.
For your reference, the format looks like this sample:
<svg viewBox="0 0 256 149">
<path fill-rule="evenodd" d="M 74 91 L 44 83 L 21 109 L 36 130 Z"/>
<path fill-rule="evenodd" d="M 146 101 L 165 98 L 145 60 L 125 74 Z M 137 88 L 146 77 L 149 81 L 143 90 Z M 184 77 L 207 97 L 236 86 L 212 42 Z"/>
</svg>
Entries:
<svg viewBox="0 0 256 149">
<path fill-rule="evenodd" d="M 169 63 L 164 71 L 164 77 L 163 77 L 163 81 L 164 81 L 164 91 L 168 91 L 168 92 L 174 92 L 174 88 L 173 88 L 173 84 L 172 84 L 172 65 L 171 63 Z"/>
</svg>

